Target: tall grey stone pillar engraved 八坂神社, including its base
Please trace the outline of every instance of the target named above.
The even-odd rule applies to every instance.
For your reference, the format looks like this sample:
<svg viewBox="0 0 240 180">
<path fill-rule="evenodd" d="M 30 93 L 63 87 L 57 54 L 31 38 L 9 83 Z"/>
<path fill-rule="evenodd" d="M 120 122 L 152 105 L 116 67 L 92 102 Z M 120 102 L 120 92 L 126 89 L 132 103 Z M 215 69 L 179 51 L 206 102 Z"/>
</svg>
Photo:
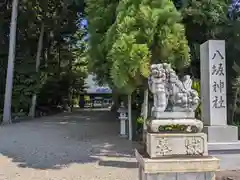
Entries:
<svg viewBox="0 0 240 180">
<path fill-rule="evenodd" d="M 238 128 L 227 124 L 225 41 L 201 45 L 201 101 L 203 131 L 210 150 L 240 149 Z"/>
</svg>

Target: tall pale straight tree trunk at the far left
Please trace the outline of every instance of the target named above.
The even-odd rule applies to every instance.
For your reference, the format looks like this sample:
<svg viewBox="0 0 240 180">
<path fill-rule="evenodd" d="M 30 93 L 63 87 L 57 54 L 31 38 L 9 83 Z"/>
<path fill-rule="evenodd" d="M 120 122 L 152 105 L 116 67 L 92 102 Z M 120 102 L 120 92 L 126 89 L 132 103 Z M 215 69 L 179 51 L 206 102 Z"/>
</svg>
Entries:
<svg viewBox="0 0 240 180">
<path fill-rule="evenodd" d="M 8 69 L 5 88 L 4 111 L 3 111 L 3 124 L 11 124 L 11 109 L 12 109 L 12 86 L 13 86 L 13 72 L 14 61 L 16 52 L 16 30 L 17 30 L 17 17 L 18 17 L 18 2 L 12 2 L 12 17 L 10 27 L 10 40 L 9 40 L 9 53 L 8 53 Z"/>
</svg>

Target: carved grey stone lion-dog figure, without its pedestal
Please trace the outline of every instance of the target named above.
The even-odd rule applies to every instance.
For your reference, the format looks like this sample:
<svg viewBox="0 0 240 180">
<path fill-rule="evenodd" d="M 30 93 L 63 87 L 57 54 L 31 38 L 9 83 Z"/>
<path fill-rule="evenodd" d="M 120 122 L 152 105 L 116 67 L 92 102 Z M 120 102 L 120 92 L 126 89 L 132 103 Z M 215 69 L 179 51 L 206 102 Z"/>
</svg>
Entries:
<svg viewBox="0 0 240 180">
<path fill-rule="evenodd" d="M 154 96 L 153 112 L 194 112 L 200 102 L 189 75 L 180 81 L 170 64 L 153 64 L 149 88 Z"/>
</svg>

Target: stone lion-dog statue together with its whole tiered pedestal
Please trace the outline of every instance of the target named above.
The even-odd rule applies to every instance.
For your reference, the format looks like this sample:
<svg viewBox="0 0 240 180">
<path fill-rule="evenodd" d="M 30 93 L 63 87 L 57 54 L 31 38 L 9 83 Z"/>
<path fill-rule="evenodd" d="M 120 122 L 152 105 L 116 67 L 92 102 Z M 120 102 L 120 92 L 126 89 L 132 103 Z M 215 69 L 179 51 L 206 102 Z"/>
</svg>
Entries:
<svg viewBox="0 0 240 180">
<path fill-rule="evenodd" d="M 190 76 L 181 81 L 169 64 L 153 64 L 154 105 L 147 121 L 146 151 L 135 151 L 140 180 L 213 180 L 219 160 L 208 156 L 203 123 L 195 118 L 198 93 Z"/>
</svg>

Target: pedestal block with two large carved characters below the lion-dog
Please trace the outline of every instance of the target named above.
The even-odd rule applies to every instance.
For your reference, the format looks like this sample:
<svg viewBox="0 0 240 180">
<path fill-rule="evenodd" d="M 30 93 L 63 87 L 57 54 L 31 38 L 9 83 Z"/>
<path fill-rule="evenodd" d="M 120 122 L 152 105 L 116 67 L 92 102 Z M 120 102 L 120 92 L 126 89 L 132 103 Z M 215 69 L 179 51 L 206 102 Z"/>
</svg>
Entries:
<svg viewBox="0 0 240 180">
<path fill-rule="evenodd" d="M 207 156 L 207 136 L 204 133 L 147 133 L 147 153 L 151 158 L 169 156 Z"/>
</svg>

